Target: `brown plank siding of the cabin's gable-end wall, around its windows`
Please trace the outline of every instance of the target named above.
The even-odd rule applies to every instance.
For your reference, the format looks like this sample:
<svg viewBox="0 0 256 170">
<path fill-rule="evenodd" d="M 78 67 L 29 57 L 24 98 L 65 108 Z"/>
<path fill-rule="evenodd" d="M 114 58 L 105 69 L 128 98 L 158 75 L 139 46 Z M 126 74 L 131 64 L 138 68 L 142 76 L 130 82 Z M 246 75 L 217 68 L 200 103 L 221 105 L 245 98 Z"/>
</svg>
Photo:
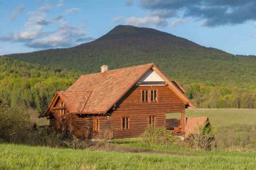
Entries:
<svg viewBox="0 0 256 170">
<path fill-rule="evenodd" d="M 157 89 L 158 102 L 141 102 L 141 90 Z M 166 126 L 166 112 L 182 112 L 184 104 L 168 86 L 134 86 L 116 104 L 111 120 L 115 139 L 138 137 L 148 126 L 148 116 L 156 116 L 156 127 Z M 121 118 L 129 117 L 129 130 L 122 130 Z"/>
</svg>

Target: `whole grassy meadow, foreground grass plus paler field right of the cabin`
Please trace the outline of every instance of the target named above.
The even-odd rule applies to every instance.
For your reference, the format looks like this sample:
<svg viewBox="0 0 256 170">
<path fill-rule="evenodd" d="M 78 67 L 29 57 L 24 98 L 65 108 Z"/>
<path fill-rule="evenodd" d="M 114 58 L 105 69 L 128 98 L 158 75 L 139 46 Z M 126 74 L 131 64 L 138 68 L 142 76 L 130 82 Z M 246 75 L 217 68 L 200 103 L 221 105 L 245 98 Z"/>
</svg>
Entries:
<svg viewBox="0 0 256 170">
<path fill-rule="evenodd" d="M 219 128 L 216 148 L 148 146 L 140 139 L 113 140 L 110 146 L 140 148 L 143 153 L 2 143 L 0 169 L 255 169 L 256 110 L 188 109 L 186 116 L 209 117 L 212 126 Z M 148 153 L 150 150 L 166 153 Z"/>
</svg>

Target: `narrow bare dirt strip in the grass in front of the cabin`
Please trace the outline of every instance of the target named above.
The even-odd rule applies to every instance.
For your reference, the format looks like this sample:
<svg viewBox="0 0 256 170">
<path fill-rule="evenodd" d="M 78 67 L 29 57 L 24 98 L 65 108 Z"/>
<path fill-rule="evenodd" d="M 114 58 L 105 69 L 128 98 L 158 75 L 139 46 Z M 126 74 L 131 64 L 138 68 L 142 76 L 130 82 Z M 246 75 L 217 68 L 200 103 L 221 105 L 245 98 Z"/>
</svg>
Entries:
<svg viewBox="0 0 256 170">
<path fill-rule="evenodd" d="M 148 150 L 143 148 L 133 148 L 129 146 L 109 146 L 109 151 L 131 152 L 131 153 L 157 153 L 167 155 L 179 155 L 179 156 L 198 156 L 196 153 L 181 153 L 176 151 L 161 151 L 161 150 Z"/>
</svg>

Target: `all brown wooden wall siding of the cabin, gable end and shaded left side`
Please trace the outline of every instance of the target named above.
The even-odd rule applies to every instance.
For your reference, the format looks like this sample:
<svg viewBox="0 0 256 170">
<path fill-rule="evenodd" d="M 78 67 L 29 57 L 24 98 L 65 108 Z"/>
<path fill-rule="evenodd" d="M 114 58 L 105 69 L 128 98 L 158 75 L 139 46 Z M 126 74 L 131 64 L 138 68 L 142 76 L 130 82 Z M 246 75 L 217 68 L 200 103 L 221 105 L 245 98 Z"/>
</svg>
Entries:
<svg viewBox="0 0 256 170">
<path fill-rule="evenodd" d="M 141 90 L 157 90 L 157 102 L 141 102 Z M 58 101 L 58 104 L 61 100 Z M 62 133 L 71 133 L 81 139 L 112 131 L 114 138 L 138 137 L 148 127 L 148 116 L 155 116 L 156 127 L 166 126 L 166 112 L 182 112 L 184 104 L 168 86 L 134 86 L 118 101 L 115 110 L 107 115 L 67 114 L 52 111 L 50 126 Z M 99 133 L 93 132 L 93 116 L 99 117 Z M 129 129 L 122 129 L 122 118 L 129 117 Z"/>
</svg>

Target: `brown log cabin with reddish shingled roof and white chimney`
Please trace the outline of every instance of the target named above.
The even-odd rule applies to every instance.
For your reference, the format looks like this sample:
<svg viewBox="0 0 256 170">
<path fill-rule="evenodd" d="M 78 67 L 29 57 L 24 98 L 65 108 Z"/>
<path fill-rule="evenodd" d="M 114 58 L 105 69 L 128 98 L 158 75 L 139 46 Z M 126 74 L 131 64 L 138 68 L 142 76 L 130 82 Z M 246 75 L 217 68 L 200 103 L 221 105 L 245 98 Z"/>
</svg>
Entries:
<svg viewBox="0 0 256 170">
<path fill-rule="evenodd" d="M 103 65 L 101 72 L 81 75 L 56 92 L 40 117 L 49 118 L 52 129 L 81 139 L 107 131 L 114 139 L 138 137 L 152 126 L 185 134 L 185 109 L 195 107 L 185 93 L 154 63 L 116 70 Z M 180 114 L 177 125 L 166 120 L 171 112 Z"/>
</svg>

